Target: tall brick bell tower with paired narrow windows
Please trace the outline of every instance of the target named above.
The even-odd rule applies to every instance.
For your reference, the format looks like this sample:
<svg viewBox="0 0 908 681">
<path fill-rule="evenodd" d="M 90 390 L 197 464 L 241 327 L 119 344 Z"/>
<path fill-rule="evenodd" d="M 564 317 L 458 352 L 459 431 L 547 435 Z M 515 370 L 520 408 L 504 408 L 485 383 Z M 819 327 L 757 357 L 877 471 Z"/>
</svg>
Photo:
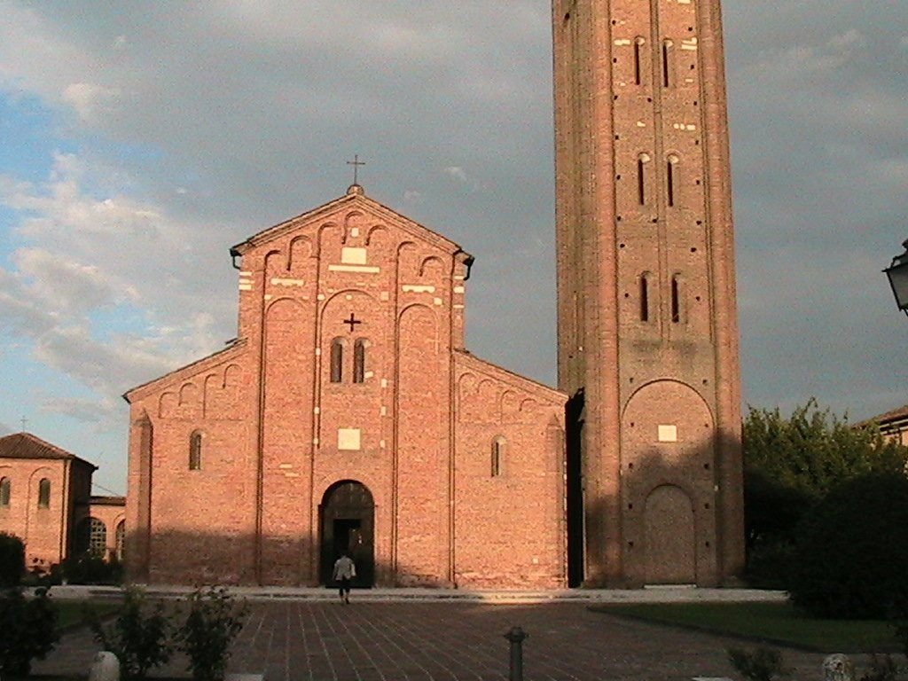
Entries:
<svg viewBox="0 0 908 681">
<path fill-rule="evenodd" d="M 552 20 L 571 572 L 727 583 L 744 523 L 719 0 L 554 0 Z"/>
</svg>

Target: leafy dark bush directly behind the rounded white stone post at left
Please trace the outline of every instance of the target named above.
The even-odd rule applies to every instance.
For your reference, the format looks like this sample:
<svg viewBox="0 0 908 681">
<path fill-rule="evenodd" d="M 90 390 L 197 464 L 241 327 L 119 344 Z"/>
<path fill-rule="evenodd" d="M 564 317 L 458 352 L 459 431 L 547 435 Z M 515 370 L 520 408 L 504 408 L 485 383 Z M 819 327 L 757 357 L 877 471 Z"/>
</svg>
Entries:
<svg viewBox="0 0 908 681">
<path fill-rule="evenodd" d="M 123 607 L 111 624 L 105 626 L 93 611 L 86 613 L 86 620 L 94 640 L 120 660 L 126 681 L 145 678 L 150 670 L 171 658 L 171 626 L 163 603 L 150 607 L 139 588 L 126 589 Z"/>
</svg>

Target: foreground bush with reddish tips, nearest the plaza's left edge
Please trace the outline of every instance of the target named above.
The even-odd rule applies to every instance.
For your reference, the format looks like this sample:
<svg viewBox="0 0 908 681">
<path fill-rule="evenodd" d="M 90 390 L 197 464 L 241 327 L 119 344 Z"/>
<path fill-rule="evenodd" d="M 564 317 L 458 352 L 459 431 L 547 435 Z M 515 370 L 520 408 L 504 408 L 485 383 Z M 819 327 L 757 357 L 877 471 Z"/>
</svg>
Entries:
<svg viewBox="0 0 908 681">
<path fill-rule="evenodd" d="M 221 681 L 246 607 L 237 605 L 224 587 L 196 589 L 188 600 L 189 614 L 177 633 L 177 646 L 189 657 L 195 681 Z"/>
</svg>

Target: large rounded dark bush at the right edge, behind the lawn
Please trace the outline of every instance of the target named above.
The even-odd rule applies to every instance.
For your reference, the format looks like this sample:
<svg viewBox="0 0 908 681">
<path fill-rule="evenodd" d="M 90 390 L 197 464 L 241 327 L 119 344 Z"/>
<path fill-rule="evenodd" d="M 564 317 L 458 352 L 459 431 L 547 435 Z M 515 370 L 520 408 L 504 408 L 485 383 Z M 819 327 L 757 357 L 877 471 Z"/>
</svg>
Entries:
<svg viewBox="0 0 908 681">
<path fill-rule="evenodd" d="M 845 482 L 796 532 L 789 592 L 814 617 L 880 618 L 908 606 L 908 479 L 871 473 Z"/>
</svg>

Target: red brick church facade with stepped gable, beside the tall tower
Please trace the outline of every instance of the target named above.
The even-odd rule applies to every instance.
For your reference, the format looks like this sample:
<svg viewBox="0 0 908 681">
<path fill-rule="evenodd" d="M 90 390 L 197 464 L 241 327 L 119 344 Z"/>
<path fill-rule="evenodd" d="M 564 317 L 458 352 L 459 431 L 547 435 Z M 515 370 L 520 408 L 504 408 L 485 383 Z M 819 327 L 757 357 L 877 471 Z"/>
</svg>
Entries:
<svg viewBox="0 0 908 681">
<path fill-rule="evenodd" d="M 231 253 L 238 338 L 124 396 L 134 581 L 566 585 L 567 396 L 465 350 L 468 253 L 356 184 Z"/>
</svg>

